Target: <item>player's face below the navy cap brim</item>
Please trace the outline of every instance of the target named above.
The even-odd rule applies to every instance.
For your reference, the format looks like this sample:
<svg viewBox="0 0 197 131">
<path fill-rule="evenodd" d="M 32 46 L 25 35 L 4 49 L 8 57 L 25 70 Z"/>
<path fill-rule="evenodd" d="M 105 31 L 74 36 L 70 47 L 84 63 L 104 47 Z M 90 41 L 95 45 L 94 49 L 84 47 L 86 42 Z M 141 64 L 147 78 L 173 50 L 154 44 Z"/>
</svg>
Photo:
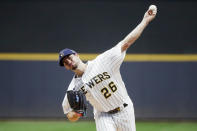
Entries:
<svg viewBox="0 0 197 131">
<path fill-rule="evenodd" d="M 71 55 L 66 56 L 63 59 L 63 64 L 67 70 L 76 70 L 78 67 L 79 61 L 80 59 L 77 54 L 71 54 Z"/>
</svg>

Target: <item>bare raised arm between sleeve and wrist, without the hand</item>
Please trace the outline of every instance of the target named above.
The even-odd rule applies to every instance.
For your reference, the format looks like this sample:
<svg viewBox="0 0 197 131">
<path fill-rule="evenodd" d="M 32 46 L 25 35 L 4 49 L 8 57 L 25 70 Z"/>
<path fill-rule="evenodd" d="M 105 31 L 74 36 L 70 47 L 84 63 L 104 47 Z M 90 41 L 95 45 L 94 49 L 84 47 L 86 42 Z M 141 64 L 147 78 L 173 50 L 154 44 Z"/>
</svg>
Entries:
<svg viewBox="0 0 197 131">
<path fill-rule="evenodd" d="M 122 51 L 129 48 L 140 37 L 147 25 L 148 22 L 142 20 L 141 23 L 122 40 Z"/>
</svg>

